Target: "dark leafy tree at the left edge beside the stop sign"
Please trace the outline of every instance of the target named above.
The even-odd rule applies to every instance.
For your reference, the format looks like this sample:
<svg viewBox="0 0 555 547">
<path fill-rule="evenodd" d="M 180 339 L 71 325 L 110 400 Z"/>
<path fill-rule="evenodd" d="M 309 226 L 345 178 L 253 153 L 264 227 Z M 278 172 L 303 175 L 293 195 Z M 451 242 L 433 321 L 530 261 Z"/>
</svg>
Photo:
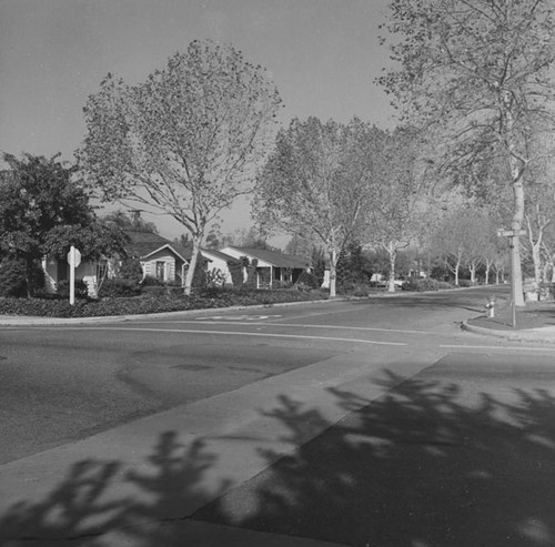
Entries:
<svg viewBox="0 0 555 547">
<path fill-rule="evenodd" d="M 24 261 L 29 293 L 36 288 L 32 272 L 47 254 L 61 257 L 75 245 L 84 256 L 99 257 L 122 249 L 122 234 L 97 222 L 74 166 L 58 155 L 4 154 L 4 161 L 10 170 L 0 180 L 0 256 Z"/>
</svg>

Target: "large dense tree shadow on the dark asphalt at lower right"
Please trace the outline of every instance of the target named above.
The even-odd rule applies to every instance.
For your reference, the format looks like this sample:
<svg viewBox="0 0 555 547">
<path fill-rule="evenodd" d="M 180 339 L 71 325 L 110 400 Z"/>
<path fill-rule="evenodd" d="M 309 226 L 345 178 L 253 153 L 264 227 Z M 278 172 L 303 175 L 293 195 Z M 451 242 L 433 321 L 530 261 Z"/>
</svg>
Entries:
<svg viewBox="0 0 555 547">
<path fill-rule="evenodd" d="M 195 518 L 365 547 L 555 545 L 552 394 L 393 374 L 385 387 L 372 404 L 334 391 L 351 416 Z M 289 442 L 304 414 L 275 408 Z"/>
</svg>

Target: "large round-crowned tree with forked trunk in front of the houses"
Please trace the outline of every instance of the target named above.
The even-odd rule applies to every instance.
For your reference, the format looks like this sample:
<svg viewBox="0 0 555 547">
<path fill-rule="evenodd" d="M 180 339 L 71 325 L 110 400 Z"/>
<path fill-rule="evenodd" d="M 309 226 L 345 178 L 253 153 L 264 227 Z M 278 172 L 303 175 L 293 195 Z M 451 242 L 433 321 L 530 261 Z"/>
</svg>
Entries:
<svg viewBox="0 0 555 547">
<path fill-rule="evenodd" d="M 143 83 L 109 74 L 87 102 L 82 170 L 104 200 L 185 226 L 186 294 L 206 224 L 253 190 L 280 103 L 262 67 L 210 41 L 192 42 Z"/>
</svg>

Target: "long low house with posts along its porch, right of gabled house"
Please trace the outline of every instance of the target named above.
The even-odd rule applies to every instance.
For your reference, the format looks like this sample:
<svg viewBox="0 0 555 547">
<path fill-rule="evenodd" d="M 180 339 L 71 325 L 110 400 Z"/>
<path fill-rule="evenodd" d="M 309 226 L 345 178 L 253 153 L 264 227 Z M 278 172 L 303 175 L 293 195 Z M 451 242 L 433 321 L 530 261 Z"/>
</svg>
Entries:
<svg viewBox="0 0 555 547">
<path fill-rule="evenodd" d="M 226 246 L 219 252 L 232 259 L 246 256 L 250 262 L 256 260 L 256 288 L 271 288 L 282 283 L 295 283 L 302 272 L 310 270 L 310 263 L 305 259 L 265 249 Z M 212 264 L 209 265 L 210 267 Z"/>
</svg>

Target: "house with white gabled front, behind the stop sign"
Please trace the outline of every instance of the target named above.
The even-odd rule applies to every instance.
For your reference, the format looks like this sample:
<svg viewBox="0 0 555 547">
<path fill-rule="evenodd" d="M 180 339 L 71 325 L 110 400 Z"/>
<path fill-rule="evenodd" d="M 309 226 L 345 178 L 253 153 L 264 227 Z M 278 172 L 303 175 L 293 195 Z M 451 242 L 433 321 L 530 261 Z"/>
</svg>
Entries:
<svg viewBox="0 0 555 547">
<path fill-rule="evenodd" d="M 143 276 L 155 277 L 164 283 L 183 285 L 189 260 L 185 252 L 161 235 L 149 232 L 125 232 L 129 244 L 125 252 L 129 257 L 141 263 Z M 82 278 L 89 286 L 89 294 L 95 295 L 99 282 L 117 273 L 120 256 L 103 257 L 99 261 L 83 260 L 75 267 L 75 278 Z M 69 280 L 69 264 L 46 257 L 42 261 L 47 288 L 54 292 L 60 281 Z"/>
</svg>

